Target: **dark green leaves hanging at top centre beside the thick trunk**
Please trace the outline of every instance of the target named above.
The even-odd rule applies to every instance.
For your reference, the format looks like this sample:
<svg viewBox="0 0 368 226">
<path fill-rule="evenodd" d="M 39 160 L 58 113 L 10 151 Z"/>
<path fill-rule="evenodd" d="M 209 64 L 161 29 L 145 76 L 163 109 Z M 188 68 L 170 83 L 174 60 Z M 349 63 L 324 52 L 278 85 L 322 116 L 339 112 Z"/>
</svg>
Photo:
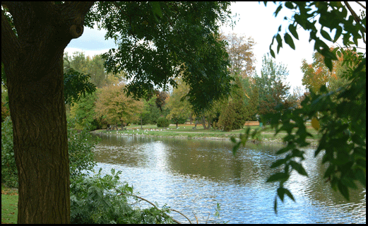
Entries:
<svg viewBox="0 0 368 226">
<path fill-rule="evenodd" d="M 219 40 L 219 23 L 230 11 L 228 2 L 98 2 L 85 18 L 92 27 L 108 30 L 119 40 L 118 49 L 103 55 L 107 71 L 126 71 L 127 86 L 136 97 L 154 85 L 177 85 L 172 77 L 183 72 L 189 84 L 189 102 L 197 112 L 230 92 L 225 42 Z M 119 35 L 117 35 L 119 34 Z"/>
</svg>

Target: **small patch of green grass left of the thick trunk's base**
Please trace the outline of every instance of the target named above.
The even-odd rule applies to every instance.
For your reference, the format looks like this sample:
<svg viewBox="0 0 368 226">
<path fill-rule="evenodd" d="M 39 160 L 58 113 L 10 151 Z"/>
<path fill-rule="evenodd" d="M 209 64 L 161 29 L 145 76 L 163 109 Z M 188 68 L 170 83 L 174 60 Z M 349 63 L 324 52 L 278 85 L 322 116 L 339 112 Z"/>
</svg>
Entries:
<svg viewBox="0 0 368 226">
<path fill-rule="evenodd" d="M 18 190 L 1 184 L 1 224 L 16 224 L 18 218 Z"/>
</svg>

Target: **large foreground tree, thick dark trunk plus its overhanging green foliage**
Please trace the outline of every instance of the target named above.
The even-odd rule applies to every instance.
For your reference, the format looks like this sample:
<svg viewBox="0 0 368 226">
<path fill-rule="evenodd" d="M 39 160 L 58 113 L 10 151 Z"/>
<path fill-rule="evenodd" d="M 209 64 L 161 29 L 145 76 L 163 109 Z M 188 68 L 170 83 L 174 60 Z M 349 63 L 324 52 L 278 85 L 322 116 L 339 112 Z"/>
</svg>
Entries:
<svg viewBox="0 0 368 226">
<path fill-rule="evenodd" d="M 119 49 L 108 71 L 126 71 L 129 91 L 174 84 L 184 71 L 197 111 L 230 91 L 227 54 L 218 41 L 227 2 L 1 2 L 4 64 L 18 168 L 18 223 L 70 221 L 63 54 L 83 25 L 108 30 Z M 90 11 L 91 10 L 91 11 Z M 88 13 L 88 14 L 87 14 Z M 87 15 L 87 16 L 86 16 Z"/>
</svg>

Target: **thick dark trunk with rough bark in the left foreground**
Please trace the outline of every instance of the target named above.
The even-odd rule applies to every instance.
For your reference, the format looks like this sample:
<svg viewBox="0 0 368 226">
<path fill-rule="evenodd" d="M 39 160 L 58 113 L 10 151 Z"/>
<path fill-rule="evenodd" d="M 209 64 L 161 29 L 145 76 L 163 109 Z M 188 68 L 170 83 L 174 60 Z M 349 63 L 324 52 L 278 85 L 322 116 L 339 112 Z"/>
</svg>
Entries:
<svg viewBox="0 0 368 226">
<path fill-rule="evenodd" d="M 64 48 L 83 34 L 93 2 L 1 2 L 6 73 L 19 179 L 18 223 L 69 223 Z"/>
</svg>

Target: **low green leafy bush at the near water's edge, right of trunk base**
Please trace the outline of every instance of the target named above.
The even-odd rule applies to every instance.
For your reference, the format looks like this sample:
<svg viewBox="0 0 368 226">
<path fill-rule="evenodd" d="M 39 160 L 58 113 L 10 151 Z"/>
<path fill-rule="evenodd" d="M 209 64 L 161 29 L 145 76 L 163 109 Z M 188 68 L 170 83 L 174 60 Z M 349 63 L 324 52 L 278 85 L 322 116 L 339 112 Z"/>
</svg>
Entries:
<svg viewBox="0 0 368 226">
<path fill-rule="evenodd" d="M 172 223 L 165 213 L 168 208 L 134 208 L 131 200 L 133 187 L 119 186 L 119 174 L 101 176 L 101 170 L 93 177 L 79 177 L 71 184 L 71 223 L 83 224 L 140 224 Z M 136 198 L 133 200 L 137 201 Z"/>
</svg>

